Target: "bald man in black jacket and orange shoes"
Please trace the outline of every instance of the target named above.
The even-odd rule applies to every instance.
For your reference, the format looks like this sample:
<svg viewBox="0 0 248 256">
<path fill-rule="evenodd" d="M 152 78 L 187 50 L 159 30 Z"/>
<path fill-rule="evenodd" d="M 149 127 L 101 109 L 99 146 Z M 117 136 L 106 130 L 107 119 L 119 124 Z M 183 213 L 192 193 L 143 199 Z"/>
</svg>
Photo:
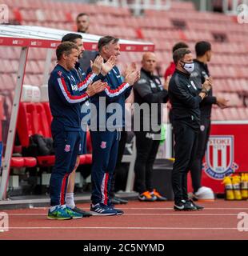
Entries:
<svg viewBox="0 0 248 256">
<path fill-rule="evenodd" d="M 134 104 L 134 133 L 136 135 L 137 148 L 137 156 L 134 166 L 134 189 L 139 193 L 138 199 L 146 202 L 166 200 L 166 198 L 162 197 L 162 195 L 151 186 L 152 168 L 158 152 L 161 133 L 161 105 L 162 103 L 165 103 L 168 98 L 168 85 L 166 83 L 165 85 L 162 85 L 158 76 L 154 75 L 155 68 L 155 54 L 143 54 L 141 77 L 138 82 L 134 84 L 134 102 L 137 103 L 136 106 L 140 108 L 140 106 L 146 105 L 146 110 L 139 112 L 140 118 L 135 118 L 135 113 L 137 113 L 136 110 L 138 110 L 138 108 L 136 108 Z M 158 118 L 155 118 L 156 114 L 151 110 L 152 105 L 155 105 L 154 103 L 156 104 L 156 107 L 158 107 L 156 110 Z M 140 124 L 140 129 L 135 129 L 139 128 L 136 127 L 137 121 Z"/>
</svg>

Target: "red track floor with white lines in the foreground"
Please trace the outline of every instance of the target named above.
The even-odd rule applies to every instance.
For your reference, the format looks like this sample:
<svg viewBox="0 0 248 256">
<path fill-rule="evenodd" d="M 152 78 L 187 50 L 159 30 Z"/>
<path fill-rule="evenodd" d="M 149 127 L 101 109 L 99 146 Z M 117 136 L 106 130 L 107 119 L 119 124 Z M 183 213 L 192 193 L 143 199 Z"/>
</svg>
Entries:
<svg viewBox="0 0 248 256">
<path fill-rule="evenodd" d="M 76 220 L 46 219 L 48 208 L 2 210 L 9 214 L 9 231 L 0 232 L 0 240 L 18 239 L 247 239 L 247 232 L 238 231 L 238 213 L 248 213 L 248 204 L 204 202 L 205 210 L 175 212 L 173 202 L 131 201 L 119 207 L 121 216 L 93 216 Z M 78 206 L 89 209 L 89 203 Z"/>
</svg>

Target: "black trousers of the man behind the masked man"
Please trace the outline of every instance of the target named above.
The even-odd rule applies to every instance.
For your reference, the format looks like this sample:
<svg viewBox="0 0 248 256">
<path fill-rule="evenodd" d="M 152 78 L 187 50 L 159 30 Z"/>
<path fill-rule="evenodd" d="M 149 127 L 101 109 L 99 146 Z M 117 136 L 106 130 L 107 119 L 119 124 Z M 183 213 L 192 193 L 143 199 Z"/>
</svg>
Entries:
<svg viewBox="0 0 248 256">
<path fill-rule="evenodd" d="M 210 118 L 201 118 L 201 127 L 198 133 L 198 149 L 194 162 L 190 166 L 192 186 L 196 192 L 202 186 L 202 161 L 210 137 Z"/>
</svg>

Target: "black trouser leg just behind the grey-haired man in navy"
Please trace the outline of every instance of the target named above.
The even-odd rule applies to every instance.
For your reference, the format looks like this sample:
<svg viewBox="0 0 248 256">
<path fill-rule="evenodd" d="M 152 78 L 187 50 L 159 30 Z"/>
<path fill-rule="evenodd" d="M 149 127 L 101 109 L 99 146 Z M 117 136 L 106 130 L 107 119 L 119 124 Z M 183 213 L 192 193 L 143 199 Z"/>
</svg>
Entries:
<svg viewBox="0 0 248 256">
<path fill-rule="evenodd" d="M 110 197 L 113 198 L 114 197 L 114 186 L 115 186 L 115 177 L 116 177 L 116 173 L 118 171 L 118 169 L 121 167 L 122 165 L 122 156 L 124 154 L 125 151 L 125 146 L 126 146 L 126 137 L 127 137 L 127 132 L 125 130 L 121 131 L 121 139 L 119 141 L 119 145 L 118 145 L 118 156 L 117 156 L 117 162 L 116 162 L 116 166 L 114 169 L 114 174 L 113 177 L 111 179 L 111 186 L 110 186 Z"/>
</svg>

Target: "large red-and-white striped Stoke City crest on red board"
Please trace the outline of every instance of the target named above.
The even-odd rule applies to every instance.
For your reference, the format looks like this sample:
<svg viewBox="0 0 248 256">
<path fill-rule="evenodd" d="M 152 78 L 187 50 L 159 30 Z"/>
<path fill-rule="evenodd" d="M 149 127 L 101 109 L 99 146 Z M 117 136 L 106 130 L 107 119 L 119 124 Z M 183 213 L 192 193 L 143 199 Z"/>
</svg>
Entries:
<svg viewBox="0 0 248 256">
<path fill-rule="evenodd" d="M 234 162 L 234 136 L 210 136 L 203 170 L 210 178 L 217 180 L 238 170 L 238 165 Z"/>
</svg>

